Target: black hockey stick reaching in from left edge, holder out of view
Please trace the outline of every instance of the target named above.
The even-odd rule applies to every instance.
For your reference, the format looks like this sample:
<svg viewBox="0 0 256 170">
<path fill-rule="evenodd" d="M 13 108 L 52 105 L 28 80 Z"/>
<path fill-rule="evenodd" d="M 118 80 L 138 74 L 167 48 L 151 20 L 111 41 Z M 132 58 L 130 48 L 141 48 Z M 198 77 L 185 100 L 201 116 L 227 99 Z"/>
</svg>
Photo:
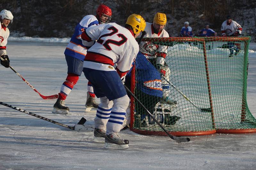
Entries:
<svg viewBox="0 0 256 170">
<path fill-rule="evenodd" d="M 0 104 L 4 105 L 4 106 L 6 106 L 6 107 L 12 108 L 12 109 L 14 109 L 14 110 L 18 110 L 18 111 L 20 111 L 20 112 L 27 113 L 27 114 L 29 114 L 29 115 L 31 115 L 31 116 L 38 117 L 38 118 L 43 119 L 43 120 L 46 120 L 46 121 L 48 121 L 48 122 L 51 122 L 51 123 L 54 123 L 54 124 L 59 124 L 60 126 L 66 127 L 66 128 L 68 128 L 68 129 L 71 129 L 71 130 L 75 130 L 75 127 L 76 127 L 76 125 L 75 125 L 75 126 L 68 126 L 68 125 L 66 125 L 66 124 L 62 124 L 62 123 L 56 122 L 56 121 L 54 121 L 54 120 L 51 120 L 51 119 L 48 119 L 48 118 L 45 118 L 45 117 L 36 115 L 36 114 L 34 114 L 34 113 L 31 113 L 31 112 L 28 112 L 28 111 L 26 111 L 26 110 L 23 110 L 23 109 L 20 109 L 20 108 L 17 108 L 17 107 L 13 107 L 13 106 L 11 106 L 11 105 L 9 105 L 9 104 L 6 104 L 6 103 L 3 103 L 3 102 L 0 102 Z M 86 119 L 85 119 L 84 117 L 82 117 L 81 120 L 78 122 L 78 124 L 84 124 L 85 122 L 86 122 Z"/>
</svg>

